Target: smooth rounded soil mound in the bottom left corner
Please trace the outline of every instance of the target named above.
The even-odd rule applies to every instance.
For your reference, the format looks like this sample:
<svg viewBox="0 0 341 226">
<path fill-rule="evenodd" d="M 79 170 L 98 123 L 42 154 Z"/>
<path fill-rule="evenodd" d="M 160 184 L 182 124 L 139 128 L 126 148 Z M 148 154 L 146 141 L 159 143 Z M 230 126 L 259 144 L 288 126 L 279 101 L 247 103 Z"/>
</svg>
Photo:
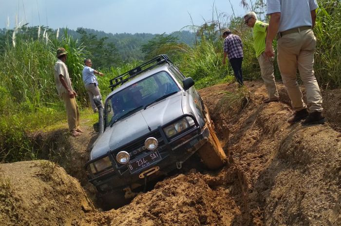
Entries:
<svg viewBox="0 0 341 226">
<path fill-rule="evenodd" d="M 71 225 L 92 209 L 79 182 L 52 162 L 0 165 L 0 225 Z"/>
</svg>

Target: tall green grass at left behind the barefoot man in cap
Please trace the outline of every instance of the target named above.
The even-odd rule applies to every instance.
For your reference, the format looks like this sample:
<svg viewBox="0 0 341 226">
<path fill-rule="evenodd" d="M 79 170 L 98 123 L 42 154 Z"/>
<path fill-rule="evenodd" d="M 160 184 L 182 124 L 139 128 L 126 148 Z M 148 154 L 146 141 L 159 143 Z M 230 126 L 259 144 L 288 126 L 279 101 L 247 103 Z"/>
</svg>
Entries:
<svg viewBox="0 0 341 226">
<path fill-rule="evenodd" d="M 58 39 L 50 30 L 45 30 L 41 37 L 40 29 L 33 29 L 35 33 L 25 27 L 8 31 L 1 54 L 0 161 L 34 159 L 36 154 L 27 131 L 65 118 L 63 102 L 57 95 L 54 81 L 58 47 L 69 52 L 66 64 L 73 87 L 80 97 L 78 102 L 80 100 L 81 105 L 86 103 L 81 78 L 83 47 L 66 32 Z"/>
</svg>

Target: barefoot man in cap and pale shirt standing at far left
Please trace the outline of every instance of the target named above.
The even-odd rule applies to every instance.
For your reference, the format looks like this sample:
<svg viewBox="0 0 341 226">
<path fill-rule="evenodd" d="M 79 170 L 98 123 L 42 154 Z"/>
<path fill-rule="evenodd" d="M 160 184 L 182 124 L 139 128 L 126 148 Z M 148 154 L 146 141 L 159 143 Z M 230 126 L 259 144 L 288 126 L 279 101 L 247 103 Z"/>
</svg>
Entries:
<svg viewBox="0 0 341 226">
<path fill-rule="evenodd" d="M 58 95 L 63 99 L 68 118 L 71 135 L 77 137 L 83 132 L 79 128 L 79 110 L 76 102 L 77 93 L 72 88 L 68 68 L 66 67 L 67 54 L 64 48 L 57 49 L 57 62 L 55 64 L 55 83 Z"/>
</svg>

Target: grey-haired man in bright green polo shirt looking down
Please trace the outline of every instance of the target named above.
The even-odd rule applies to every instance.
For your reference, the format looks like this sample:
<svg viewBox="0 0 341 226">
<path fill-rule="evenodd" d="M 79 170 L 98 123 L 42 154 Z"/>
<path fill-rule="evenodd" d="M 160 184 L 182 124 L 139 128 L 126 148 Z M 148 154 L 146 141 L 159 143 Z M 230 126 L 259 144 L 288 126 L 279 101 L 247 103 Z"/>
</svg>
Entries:
<svg viewBox="0 0 341 226">
<path fill-rule="evenodd" d="M 276 87 L 275 76 L 273 72 L 274 57 L 267 57 L 265 51 L 265 39 L 267 32 L 267 23 L 257 20 L 255 12 L 249 12 L 244 16 L 246 25 L 253 28 L 253 47 L 256 51 L 256 57 L 261 67 L 262 79 L 264 80 L 267 89 L 268 98 L 263 102 L 269 103 L 278 101 L 279 95 Z"/>
</svg>

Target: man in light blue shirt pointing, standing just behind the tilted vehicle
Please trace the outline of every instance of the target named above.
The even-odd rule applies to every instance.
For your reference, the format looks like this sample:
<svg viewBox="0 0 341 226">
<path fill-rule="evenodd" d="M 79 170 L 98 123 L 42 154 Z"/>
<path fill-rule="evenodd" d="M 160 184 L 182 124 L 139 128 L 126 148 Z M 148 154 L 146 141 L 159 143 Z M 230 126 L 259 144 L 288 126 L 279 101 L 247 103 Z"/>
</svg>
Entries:
<svg viewBox="0 0 341 226">
<path fill-rule="evenodd" d="M 93 65 L 91 59 L 85 59 L 84 64 L 85 66 L 83 69 L 83 82 L 90 98 L 91 107 L 96 113 L 98 109 L 96 107 L 96 104 L 94 103 L 93 98 L 95 96 L 100 96 L 101 94 L 99 92 L 98 81 L 95 74 L 99 74 L 100 76 L 104 76 L 104 74 L 91 68 L 91 66 Z"/>
</svg>

